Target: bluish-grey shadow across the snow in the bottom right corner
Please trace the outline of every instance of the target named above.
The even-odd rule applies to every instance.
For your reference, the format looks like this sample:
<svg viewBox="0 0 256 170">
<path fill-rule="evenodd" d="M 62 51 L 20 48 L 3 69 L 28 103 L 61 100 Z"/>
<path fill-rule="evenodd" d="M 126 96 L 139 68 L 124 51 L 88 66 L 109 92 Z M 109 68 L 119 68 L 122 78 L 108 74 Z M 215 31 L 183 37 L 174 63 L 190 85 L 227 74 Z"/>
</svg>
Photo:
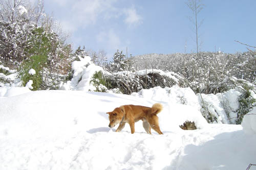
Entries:
<svg viewBox="0 0 256 170">
<path fill-rule="evenodd" d="M 256 147 L 247 140 L 244 132 L 225 132 L 203 144 L 189 144 L 184 148 L 184 156 L 179 156 L 170 167 L 178 169 L 246 169 L 255 162 Z"/>
</svg>

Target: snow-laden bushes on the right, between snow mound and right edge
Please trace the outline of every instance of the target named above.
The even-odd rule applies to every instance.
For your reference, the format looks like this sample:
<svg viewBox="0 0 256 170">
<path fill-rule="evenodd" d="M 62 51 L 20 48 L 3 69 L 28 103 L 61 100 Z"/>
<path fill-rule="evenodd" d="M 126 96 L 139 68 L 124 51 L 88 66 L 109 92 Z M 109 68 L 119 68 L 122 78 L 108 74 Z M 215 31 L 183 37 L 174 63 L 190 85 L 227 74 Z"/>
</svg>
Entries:
<svg viewBox="0 0 256 170">
<path fill-rule="evenodd" d="M 242 88 L 217 94 L 197 94 L 201 113 L 208 123 L 241 124 L 243 115 L 255 106 L 255 93 Z"/>
</svg>

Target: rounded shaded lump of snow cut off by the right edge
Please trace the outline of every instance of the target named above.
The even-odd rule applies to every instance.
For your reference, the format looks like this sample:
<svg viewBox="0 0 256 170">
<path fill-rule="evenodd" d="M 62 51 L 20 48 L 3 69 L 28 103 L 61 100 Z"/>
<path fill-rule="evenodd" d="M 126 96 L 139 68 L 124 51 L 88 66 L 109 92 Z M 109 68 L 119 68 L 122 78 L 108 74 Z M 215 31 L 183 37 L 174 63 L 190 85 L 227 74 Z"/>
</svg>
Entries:
<svg viewBox="0 0 256 170">
<path fill-rule="evenodd" d="M 242 127 L 245 133 L 249 135 L 256 134 L 256 107 L 244 115 Z"/>
</svg>

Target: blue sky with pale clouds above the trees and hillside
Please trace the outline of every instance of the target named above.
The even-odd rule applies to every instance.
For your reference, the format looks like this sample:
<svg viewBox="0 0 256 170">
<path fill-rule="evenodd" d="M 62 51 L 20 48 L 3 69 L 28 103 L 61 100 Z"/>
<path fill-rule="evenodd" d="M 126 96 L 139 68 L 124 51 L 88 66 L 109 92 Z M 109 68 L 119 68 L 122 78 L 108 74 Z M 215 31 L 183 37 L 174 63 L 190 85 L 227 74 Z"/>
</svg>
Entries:
<svg viewBox="0 0 256 170">
<path fill-rule="evenodd" d="M 193 13 L 185 0 L 45 0 L 74 49 L 119 50 L 132 55 L 196 52 Z M 256 46 L 255 0 L 202 0 L 198 20 L 201 51 L 246 51 L 238 40 Z M 125 52 L 126 53 L 126 52 Z"/>
</svg>

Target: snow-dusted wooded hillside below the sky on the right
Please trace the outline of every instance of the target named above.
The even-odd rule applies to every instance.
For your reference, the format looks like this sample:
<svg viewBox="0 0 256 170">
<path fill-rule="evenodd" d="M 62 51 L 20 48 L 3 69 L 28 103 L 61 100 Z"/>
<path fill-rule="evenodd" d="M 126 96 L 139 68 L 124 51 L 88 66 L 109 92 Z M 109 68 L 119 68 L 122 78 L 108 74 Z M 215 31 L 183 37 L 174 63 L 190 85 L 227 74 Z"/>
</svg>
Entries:
<svg viewBox="0 0 256 170">
<path fill-rule="evenodd" d="M 255 81 L 255 52 L 200 52 L 198 57 L 196 53 L 146 54 L 133 57 L 132 61 L 138 70 L 154 67 L 176 72 L 195 93 L 216 94 L 243 86 L 240 80 Z"/>
</svg>

